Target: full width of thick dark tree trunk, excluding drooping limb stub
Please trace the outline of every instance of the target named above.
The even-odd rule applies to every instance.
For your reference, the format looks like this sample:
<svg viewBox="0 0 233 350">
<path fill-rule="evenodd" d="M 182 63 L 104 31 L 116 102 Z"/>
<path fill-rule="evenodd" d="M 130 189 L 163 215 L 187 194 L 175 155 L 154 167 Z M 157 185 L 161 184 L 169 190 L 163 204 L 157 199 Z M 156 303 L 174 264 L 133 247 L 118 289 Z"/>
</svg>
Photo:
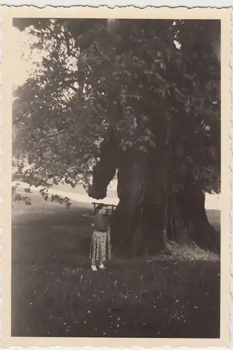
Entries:
<svg viewBox="0 0 233 350">
<path fill-rule="evenodd" d="M 128 162 L 128 167 L 132 165 Z M 134 174 L 132 174 L 132 172 Z M 151 255 L 162 251 L 167 240 L 195 242 L 200 248 L 220 252 L 220 237 L 210 225 L 202 189 L 195 183 L 167 193 L 158 179 L 151 181 L 137 167 L 118 172 L 120 203 L 113 216 L 113 248 L 118 255 Z M 162 192 L 162 193 L 161 193 Z"/>
</svg>

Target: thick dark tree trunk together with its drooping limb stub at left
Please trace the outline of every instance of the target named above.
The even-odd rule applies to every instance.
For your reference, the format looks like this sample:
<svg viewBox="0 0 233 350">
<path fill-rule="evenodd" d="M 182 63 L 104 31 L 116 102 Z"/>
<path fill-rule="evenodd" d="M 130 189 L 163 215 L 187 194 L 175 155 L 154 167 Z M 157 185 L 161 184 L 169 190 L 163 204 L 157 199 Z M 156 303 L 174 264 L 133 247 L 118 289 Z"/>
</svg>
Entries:
<svg viewBox="0 0 233 350">
<path fill-rule="evenodd" d="M 189 180 L 179 192 L 167 183 L 161 153 L 125 152 L 120 162 L 106 153 L 94 168 L 90 196 L 103 199 L 118 169 L 120 202 L 112 218 L 113 251 L 117 255 L 153 255 L 168 240 L 195 241 L 204 249 L 220 250 L 218 235 L 209 224 L 202 188 Z M 119 158 L 118 158 L 119 159 Z"/>
</svg>

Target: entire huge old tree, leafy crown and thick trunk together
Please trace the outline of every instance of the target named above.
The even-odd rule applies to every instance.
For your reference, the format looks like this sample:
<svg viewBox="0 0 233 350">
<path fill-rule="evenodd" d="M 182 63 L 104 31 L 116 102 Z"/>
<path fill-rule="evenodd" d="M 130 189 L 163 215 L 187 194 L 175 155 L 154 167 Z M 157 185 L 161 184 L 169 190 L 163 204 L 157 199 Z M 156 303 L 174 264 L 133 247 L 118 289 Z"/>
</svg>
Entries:
<svg viewBox="0 0 233 350">
<path fill-rule="evenodd" d="M 220 191 L 220 21 L 15 25 L 47 52 L 15 91 L 15 158 L 31 164 L 15 176 L 81 182 L 103 199 L 117 172 L 117 253 L 155 253 L 168 239 L 218 251 L 204 193 Z"/>
</svg>

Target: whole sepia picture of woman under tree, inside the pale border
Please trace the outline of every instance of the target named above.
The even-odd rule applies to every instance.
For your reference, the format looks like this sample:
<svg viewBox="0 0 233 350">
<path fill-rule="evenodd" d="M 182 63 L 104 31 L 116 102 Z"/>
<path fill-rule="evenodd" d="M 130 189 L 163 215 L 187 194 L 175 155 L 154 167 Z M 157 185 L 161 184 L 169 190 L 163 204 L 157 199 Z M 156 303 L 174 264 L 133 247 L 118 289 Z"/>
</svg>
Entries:
<svg viewBox="0 0 233 350">
<path fill-rule="evenodd" d="M 223 20 L 112 17 L 12 19 L 10 337 L 220 339 Z"/>
</svg>

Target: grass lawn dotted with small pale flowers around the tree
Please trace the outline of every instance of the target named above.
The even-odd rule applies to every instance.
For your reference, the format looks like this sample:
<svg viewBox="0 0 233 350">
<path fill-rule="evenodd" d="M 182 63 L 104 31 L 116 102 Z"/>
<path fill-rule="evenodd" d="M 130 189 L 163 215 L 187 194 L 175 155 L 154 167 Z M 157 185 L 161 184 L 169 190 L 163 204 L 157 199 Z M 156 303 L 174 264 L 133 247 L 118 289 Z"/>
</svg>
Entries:
<svg viewBox="0 0 233 350">
<path fill-rule="evenodd" d="M 220 336 L 216 255 L 183 248 L 91 272 L 92 206 L 32 203 L 13 210 L 12 336 Z M 209 218 L 219 230 L 219 212 Z"/>
</svg>

